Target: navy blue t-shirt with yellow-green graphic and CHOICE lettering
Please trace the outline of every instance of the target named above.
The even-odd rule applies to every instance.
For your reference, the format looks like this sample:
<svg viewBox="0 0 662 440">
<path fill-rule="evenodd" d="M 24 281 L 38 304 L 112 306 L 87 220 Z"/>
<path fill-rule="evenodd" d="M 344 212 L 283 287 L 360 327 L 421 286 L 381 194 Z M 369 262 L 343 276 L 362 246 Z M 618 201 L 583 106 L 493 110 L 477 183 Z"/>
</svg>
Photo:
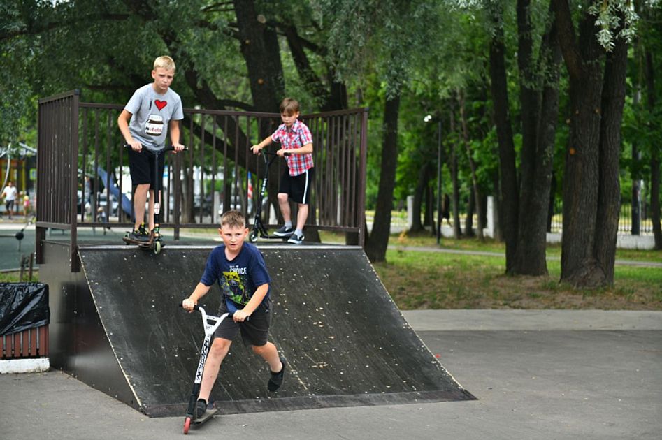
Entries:
<svg viewBox="0 0 662 440">
<path fill-rule="evenodd" d="M 267 300 L 271 293 L 271 277 L 266 270 L 264 258 L 251 243 L 244 243 L 239 255 L 232 261 L 228 261 L 225 256 L 224 244 L 211 251 L 200 282 L 205 286 L 211 286 L 216 281 L 224 299 L 229 299 L 240 306 L 246 305 L 262 284 L 270 284 L 262 302 Z"/>
</svg>

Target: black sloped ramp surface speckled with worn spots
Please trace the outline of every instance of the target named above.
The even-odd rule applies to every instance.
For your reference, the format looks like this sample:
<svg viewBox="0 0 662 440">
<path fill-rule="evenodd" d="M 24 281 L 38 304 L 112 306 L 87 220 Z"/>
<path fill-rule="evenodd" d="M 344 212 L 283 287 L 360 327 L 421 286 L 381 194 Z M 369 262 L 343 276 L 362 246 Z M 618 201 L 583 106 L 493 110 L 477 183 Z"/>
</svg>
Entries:
<svg viewBox="0 0 662 440">
<path fill-rule="evenodd" d="M 117 368 L 150 416 L 185 412 L 203 328 L 178 303 L 211 249 L 80 249 Z M 289 371 L 278 393 L 268 393 L 268 365 L 236 339 L 213 390 L 221 413 L 474 398 L 404 321 L 360 248 L 260 249 L 272 277 L 271 341 Z M 215 314 L 219 299 L 215 286 L 201 305 Z"/>
</svg>

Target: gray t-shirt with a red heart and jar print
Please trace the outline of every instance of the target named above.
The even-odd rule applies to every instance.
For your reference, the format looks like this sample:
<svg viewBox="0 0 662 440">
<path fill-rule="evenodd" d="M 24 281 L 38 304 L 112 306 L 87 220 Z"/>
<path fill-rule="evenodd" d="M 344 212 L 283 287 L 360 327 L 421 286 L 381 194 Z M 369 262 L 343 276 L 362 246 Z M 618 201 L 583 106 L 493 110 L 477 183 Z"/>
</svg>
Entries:
<svg viewBox="0 0 662 440">
<path fill-rule="evenodd" d="M 158 94 L 153 83 L 136 90 L 124 110 L 131 113 L 129 132 L 150 151 L 163 149 L 171 119 L 184 119 L 182 99 L 172 89 Z"/>
</svg>

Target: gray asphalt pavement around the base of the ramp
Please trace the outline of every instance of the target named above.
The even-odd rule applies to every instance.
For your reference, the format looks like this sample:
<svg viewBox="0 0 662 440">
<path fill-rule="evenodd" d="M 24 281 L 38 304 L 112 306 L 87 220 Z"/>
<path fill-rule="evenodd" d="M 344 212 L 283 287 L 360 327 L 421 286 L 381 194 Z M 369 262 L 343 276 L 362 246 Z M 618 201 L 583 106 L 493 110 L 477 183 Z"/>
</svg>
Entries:
<svg viewBox="0 0 662 440">
<path fill-rule="evenodd" d="M 659 439 L 662 312 L 406 311 L 478 400 L 223 416 L 189 435 L 273 439 Z M 599 329 L 599 330 L 596 330 Z M 181 439 L 60 372 L 0 376 L 2 439 Z"/>
</svg>

